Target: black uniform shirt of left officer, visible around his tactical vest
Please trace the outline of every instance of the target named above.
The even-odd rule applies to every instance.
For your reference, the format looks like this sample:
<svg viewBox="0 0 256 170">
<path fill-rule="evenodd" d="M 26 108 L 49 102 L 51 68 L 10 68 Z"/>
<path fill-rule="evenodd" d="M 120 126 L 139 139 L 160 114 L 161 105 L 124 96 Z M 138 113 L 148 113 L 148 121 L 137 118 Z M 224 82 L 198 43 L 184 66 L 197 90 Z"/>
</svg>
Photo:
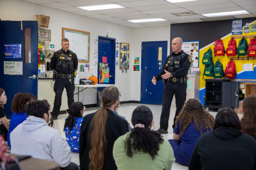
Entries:
<svg viewBox="0 0 256 170">
<path fill-rule="evenodd" d="M 64 53 L 64 54 L 67 54 L 69 55 L 70 53 L 72 53 L 72 62 L 74 63 L 74 69 L 77 70 L 77 66 L 78 66 L 78 60 L 77 60 L 77 56 L 76 54 L 73 52 L 73 51 L 70 51 L 70 50 L 67 50 L 67 52 L 65 52 L 63 49 L 61 49 L 61 51 Z M 59 52 L 58 51 L 55 51 L 53 53 L 53 56 L 51 58 L 51 63 L 50 63 L 50 67 L 52 70 L 56 70 L 55 69 L 55 66 L 56 66 L 56 61 L 57 61 L 57 58 L 59 58 Z M 69 71 L 69 70 L 61 70 L 60 73 L 63 73 L 63 74 L 72 74 L 74 72 L 73 71 Z"/>
</svg>

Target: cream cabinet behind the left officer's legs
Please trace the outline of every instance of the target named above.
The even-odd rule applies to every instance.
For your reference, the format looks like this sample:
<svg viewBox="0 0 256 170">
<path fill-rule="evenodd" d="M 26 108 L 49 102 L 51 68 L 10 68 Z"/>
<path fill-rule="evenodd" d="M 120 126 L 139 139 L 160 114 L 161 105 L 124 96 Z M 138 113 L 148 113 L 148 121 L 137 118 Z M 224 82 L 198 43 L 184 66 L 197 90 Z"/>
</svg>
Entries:
<svg viewBox="0 0 256 170">
<path fill-rule="evenodd" d="M 38 79 L 38 100 L 46 99 L 50 106 L 50 112 L 53 109 L 55 92 L 53 91 L 54 81 L 52 79 Z M 67 92 L 64 89 L 61 99 L 60 111 L 68 109 Z"/>
</svg>

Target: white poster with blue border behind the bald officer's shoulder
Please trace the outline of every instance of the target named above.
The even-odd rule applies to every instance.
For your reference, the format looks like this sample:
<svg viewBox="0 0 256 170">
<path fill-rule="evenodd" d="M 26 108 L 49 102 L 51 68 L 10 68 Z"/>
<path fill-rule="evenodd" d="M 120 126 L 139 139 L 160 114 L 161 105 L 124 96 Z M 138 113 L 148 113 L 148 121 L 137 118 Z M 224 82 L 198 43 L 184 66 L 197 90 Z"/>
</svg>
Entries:
<svg viewBox="0 0 256 170">
<path fill-rule="evenodd" d="M 186 41 L 183 42 L 181 49 L 191 56 L 191 68 L 199 67 L 199 41 Z"/>
</svg>

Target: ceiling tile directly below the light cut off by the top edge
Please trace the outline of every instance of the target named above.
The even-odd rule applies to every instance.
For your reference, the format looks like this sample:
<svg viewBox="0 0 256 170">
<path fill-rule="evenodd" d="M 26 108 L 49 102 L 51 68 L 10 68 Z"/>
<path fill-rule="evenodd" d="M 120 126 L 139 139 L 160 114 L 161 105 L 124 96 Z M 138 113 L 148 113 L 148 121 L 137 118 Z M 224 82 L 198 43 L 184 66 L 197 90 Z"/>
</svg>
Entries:
<svg viewBox="0 0 256 170">
<path fill-rule="evenodd" d="M 180 7 L 193 7 L 193 6 L 212 5 L 212 4 L 229 3 L 229 2 L 230 2 L 229 0 L 199 0 L 199 1 L 174 3 L 174 5 L 178 5 Z"/>
</svg>

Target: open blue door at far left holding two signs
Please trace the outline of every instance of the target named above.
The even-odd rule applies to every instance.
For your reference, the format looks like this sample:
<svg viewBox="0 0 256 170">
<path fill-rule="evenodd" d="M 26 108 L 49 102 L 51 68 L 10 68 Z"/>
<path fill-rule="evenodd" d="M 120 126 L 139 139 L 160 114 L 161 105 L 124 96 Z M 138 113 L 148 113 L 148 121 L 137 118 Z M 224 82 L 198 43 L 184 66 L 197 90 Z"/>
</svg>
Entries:
<svg viewBox="0 0 256 170">
<path fill-rule="evenodd" d="M 25 63 L 25 28 L 31 28 L 31 61 Z M 0 88 L 5 90 L 7 103 L 4 112 L 10 118 L 12 99 L 16 93 L 31 93 L 37 97 L 38 22 L 0 21 Z M 4 44 L 21 44 L 21 58 L 4 58 Z M 4 74 L 4 61 L 22 61 L 22 75 Z"/>
</svg>

